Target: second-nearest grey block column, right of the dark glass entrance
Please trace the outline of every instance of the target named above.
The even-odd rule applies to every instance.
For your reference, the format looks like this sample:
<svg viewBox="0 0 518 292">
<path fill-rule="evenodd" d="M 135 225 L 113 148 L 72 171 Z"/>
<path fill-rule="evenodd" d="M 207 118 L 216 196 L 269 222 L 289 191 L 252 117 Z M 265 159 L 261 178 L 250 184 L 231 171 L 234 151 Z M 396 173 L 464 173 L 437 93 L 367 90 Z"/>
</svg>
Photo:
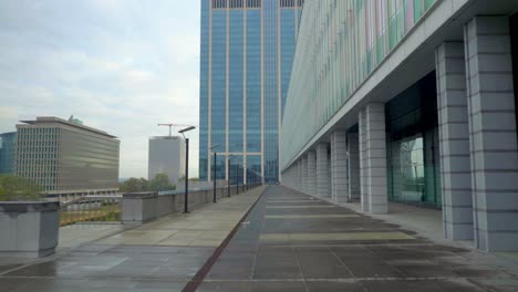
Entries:
<svg viewBox="0 0 518 292">
<path fill-rule="evenodd" d="M 473 205 L 464 43 L 443 43 L 435 62 L 444 234 L 467 240 L 473 239 Z"/>
</svg>

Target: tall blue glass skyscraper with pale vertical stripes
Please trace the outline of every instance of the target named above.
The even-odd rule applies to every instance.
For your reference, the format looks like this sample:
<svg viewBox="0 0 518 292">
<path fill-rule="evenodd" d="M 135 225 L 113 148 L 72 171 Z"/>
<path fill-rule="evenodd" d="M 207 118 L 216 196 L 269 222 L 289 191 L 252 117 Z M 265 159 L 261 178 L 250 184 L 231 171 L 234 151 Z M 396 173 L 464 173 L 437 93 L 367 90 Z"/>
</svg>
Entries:
<svg viewBox="0 0 518 292">
<path fill-rule="evenodd" d="M 217 179 L 279 181 L 279 129 L 302 2 L 201 0 L 201 180 L 213 179 L 216 152 Z"/>
</svg>

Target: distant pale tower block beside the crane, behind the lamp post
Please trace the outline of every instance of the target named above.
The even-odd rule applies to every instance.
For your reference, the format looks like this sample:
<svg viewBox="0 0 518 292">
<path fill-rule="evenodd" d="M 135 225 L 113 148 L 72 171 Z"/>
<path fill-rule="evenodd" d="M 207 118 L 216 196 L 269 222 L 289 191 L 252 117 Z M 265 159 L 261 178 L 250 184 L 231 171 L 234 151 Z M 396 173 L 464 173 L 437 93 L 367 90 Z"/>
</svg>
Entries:
<svg viewBox="0 0 518 292">
<path fill-rule="evenodd" d="M 149 138 L 147 178 L 166 174 L 173 184 L 185 175 L 185 140 L 177 136 Z"/>
</svg>

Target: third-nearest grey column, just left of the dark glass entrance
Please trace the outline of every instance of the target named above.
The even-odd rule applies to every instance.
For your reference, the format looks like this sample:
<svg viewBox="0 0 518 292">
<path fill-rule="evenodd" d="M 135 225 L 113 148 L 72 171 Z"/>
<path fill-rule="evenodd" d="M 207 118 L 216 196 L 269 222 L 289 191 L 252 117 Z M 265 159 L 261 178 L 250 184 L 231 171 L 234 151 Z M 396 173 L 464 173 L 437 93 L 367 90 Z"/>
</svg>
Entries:
<svg viewBox="0 0 518 292">
<path fill-rule="evenodd" d="M 386 187 L 386 133 L 385 105 L 372 103 L 366 106 L 366 167 L 369 204 L 372 213 L 388 211 Z"/>
</svg>

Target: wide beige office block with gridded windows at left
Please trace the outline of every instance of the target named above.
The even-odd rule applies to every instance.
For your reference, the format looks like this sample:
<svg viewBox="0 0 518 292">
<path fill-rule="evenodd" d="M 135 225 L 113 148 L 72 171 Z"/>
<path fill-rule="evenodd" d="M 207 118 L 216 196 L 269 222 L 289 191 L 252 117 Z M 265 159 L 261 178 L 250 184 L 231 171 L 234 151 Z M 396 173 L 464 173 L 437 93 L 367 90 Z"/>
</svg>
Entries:
<svg viewBox="0 0 518 292">
<path fill-rule="evenodd" d="M 17 125 L 15 174 L 50 195 L 118 190 L 121 142 L 106 132 L 58 117 Z"/>
</svg>

